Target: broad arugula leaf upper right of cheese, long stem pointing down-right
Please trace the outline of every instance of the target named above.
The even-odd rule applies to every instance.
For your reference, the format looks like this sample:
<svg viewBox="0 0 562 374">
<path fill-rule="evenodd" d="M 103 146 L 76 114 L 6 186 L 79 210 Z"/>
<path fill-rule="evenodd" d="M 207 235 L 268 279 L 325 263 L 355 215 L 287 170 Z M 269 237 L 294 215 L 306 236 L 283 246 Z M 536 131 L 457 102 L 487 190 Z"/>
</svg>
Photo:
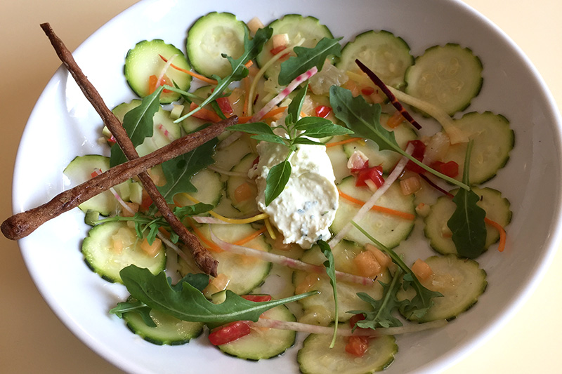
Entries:
<svg viewBox="0 0 562 374">
<path fill-rule="evenodd" d="M 443 180 L 447 180 L 447 182 L 453 185 L 457 185 L 466 190 L 470 189 L 465 183 L 447 177 L 447 175 L 443 173 L 439 173 L 400 148 L 396 142 L 396 138 L 394 138 L 394 133 L 392 131 L 387 131 L 386 128 L 381 126 L 381 106 L 379 104 L 369 105 L 361 95 L 353 97 L 351 91 L 339 86 L 332 86 L 330 88 L 329 102 L 334 110 L 336 118 L 344 121 L 346 126 L 351 128 L 355 135 L 376 142 L 380 150 L 389 149 L 398 152 L 416 165 L 424 168 L 424 170 L 429 171 L 429 173 Z"/>
</svg>

